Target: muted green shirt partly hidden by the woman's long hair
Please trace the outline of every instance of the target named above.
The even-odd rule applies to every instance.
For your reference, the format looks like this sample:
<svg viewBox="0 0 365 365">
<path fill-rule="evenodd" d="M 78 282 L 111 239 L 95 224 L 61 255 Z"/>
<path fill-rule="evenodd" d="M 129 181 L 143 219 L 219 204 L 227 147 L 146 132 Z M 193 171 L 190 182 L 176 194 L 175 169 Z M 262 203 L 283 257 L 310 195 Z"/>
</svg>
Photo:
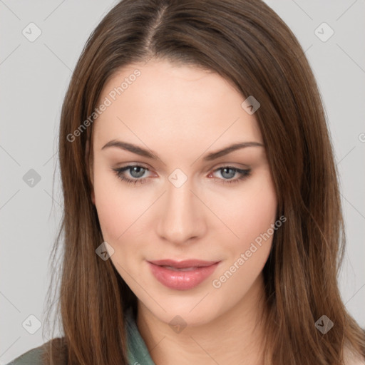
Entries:
<svg viewBox="0 0 365 365">
<path fill-rule="evenodd" d="M 133 311 L 130 307 L 125 312 L 125 330 L 127 334 L 128 362 L 130 365 L 155 365 L 150 357 L 145 341 L 140 336 Z M 41 365 L 41 356 L 45 351 L 44 345 L 31 349 L 17 357 L 7 365 Z M 64 354 L 63 354 L 64 355 Z M 67 365 L 66 356 L 60 357 L 60 364 Z"/>
</svg>

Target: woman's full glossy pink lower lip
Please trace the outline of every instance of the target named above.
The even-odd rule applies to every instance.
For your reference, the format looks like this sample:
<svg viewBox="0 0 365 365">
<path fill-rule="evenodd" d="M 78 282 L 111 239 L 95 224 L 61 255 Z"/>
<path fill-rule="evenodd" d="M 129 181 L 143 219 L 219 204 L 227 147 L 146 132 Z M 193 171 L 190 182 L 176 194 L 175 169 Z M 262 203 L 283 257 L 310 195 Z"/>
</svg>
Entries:
<svg viewBox="0 0 365 365">
<path fill-rule="evenodd" d="M 205 267 L 197 267 L 189 271 L 175 271 L 168 267 L 150 265 L 151 272 L 158 281 L 170 289 L 187 290 L 196 287 L 215 271 L 219 262 Z"/>
</svg>

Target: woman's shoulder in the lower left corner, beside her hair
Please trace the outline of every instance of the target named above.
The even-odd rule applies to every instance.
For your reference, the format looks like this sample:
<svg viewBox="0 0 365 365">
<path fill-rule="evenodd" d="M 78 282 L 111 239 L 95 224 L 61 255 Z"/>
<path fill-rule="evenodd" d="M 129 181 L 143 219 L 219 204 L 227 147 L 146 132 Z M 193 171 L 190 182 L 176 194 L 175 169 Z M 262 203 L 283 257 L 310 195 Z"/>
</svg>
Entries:
<svg viewBox="0 0 365 365">
<path fill-rule="evenodd" d="M 51 339 L 50 341 L 35 347 L 21 354 L 7 365 L 43 365 L 48 364 L 50 359 L 49 352 L 52 348 L 53 364 L 66 365 L 67 353 L 64 337 Z"/>
</svg>

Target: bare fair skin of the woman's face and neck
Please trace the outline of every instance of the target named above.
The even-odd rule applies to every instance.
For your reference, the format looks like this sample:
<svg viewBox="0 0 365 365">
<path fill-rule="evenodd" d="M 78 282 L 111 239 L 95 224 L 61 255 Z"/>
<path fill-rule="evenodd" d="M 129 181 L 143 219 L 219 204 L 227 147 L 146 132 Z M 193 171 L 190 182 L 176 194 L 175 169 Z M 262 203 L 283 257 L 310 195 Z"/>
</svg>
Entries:
<svg viewBox="0 0 365 365">
<path fill-rule="evenodd" d="M 140 334 L 157 365 L 262 364 L 259 297 L 272 236 L 221 287 L 212 280 L 276 220 L 265 148 L 203 160 L 232 143 L 263 145 L 255 113 L 241 107 L 245 98 L 216 73 L 168 61 L 123 68 L 107 81 L 100 101 L 135 68 L 140 76 L 94 122 L 91 179 L 103 238 L 114 250 L 110 259 L 138 298 Z M 110 140 L 152 150 L 158 159 L 103 148 Z M 148 169 L 140 173 L 144 183 L 128 184 L 113 170 L 133 164 Z M 220 170 L 227 165 L 251 174 L 227 183 L 240 177 Z M 168 179 L 176 168 L 187 177 L 180 187 Z M 131 173 L 124 175 L 138 180 Z M 146 262 L 167 258 L 220 264 L 197 287 L 181 291 L 160 284 Z M 169 325 L 177 315 L 187 324 L 180 333 Z"/>
</svg>

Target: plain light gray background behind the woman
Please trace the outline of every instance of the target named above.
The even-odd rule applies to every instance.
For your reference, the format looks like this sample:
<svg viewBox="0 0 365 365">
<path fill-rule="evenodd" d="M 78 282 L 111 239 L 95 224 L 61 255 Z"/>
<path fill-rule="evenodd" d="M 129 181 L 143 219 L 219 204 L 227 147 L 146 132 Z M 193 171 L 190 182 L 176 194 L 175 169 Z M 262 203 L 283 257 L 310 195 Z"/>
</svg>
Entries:
<svg viewBox="0 0 365 365">
<path fill-rule="evenodd" d="M 61 213 L 56 158 L 61 103 L 88 35 L 114 4 L 0 0 L 0 364 L 48 340 L 41 329 L 29 333 L 36 329 L 29 316 L 43 323 L 48 257 Z M 348 241 L 341 295 L 365 327 L 364 0 L 267 4 L 299 39 L 319 83 L 341 174 Z M 30 33 L 31 22 L 41 29 L 33 42 L 22 34 Z M 323 22 L 334 31 L 327 41 L 316 35 L 329 35 L 326 26 L 319 27 Z M 41 178 L 33 187 L 26 175 L 31 169 Z"/>
</svg>

